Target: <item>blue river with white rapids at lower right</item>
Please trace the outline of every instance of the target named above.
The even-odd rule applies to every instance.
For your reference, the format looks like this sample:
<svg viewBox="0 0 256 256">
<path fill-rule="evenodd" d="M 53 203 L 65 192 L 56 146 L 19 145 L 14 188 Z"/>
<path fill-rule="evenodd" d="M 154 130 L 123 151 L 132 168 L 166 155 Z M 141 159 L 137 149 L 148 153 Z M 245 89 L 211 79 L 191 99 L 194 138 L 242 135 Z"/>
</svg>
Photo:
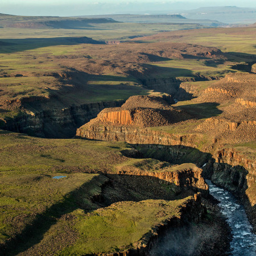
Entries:
<svg viewBox="0 0 256 256">
<path fill-rule="evenodd" d="M 217 187 L 207 180 L 210 195 L 220 201 L 221 212 L 227 218 L 232 228 L 233 240 L 230 243 L 232 255 L 256 256 L 256 235 L 251 232 L 251 225 L 245 213 L 245 208 L 238 203 L 232 193 Z"/>
</svg>

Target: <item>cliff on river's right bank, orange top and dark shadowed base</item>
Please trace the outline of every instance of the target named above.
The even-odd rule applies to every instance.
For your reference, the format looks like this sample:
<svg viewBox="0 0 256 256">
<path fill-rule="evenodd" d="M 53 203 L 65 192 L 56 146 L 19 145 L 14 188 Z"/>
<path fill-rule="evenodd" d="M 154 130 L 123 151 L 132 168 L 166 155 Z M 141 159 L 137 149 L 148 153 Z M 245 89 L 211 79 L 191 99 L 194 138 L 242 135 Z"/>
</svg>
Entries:
<svg viewBox="0 0 256 256">
<path fill-rule="evenodd" d="M 212 181 L 232 191 L 245 205 L 249 221 L 256 232 L 256 162 L 234 148 L 225 148 L 213 156 L 207 168 L 212 170 Z"/>
</svg>

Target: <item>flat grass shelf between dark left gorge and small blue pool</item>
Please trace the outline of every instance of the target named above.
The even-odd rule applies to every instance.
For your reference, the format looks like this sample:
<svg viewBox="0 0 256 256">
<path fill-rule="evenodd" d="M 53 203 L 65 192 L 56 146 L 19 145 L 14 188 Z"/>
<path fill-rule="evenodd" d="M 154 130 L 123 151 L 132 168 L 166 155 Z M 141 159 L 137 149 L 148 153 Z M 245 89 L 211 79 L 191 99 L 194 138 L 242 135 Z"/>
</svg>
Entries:
<svg viewBox="0 0 256 256">
<path fill-rule="evenodd" d="M 0 134 L 0 142 L 0 171 L 28 169 L 47 172 L 55 166 L 64 171 L 71 166 L 90 170 L 111 169 L 116 163 L 126 161 L 120 151 L 129 148 L 121 142 L 42 139 L 14 133 Z"/>
</svg>

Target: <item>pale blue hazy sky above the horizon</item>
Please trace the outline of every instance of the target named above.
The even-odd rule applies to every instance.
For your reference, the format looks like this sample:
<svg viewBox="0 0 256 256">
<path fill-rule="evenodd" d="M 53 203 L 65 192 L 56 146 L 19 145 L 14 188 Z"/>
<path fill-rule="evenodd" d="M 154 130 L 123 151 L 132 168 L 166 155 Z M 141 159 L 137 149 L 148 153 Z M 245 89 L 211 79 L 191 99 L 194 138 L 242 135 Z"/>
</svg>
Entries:
<svg viewBox="0 0 256 256">
<path fill-rule="evenodd" d="M 143 14 L 148 11 L 189 10 L 204 6 L 256 8 L 253 0 L 0 0 L 0 13 L 14 15 L 78 16 Z"/>
</svg>

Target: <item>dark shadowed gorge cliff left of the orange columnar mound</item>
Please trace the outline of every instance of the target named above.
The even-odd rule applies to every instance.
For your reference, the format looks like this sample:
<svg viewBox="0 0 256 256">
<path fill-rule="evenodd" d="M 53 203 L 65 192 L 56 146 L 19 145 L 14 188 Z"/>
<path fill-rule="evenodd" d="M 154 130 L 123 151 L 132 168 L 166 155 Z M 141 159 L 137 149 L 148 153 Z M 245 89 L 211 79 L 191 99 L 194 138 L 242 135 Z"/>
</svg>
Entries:
<svg viewBox="0 0 256 256">
<path fill-rule="evenodd" d="M 96 117 L 102 109 L 122 104 L 123 101 L 106 101 L 71 106 L 65 109 L 43 110 L 7 119 L 5 123 L 2 123 L 1 128 L 38 137 L 71 138 L 75 135 L 77 127 Z"/>
</svg>

